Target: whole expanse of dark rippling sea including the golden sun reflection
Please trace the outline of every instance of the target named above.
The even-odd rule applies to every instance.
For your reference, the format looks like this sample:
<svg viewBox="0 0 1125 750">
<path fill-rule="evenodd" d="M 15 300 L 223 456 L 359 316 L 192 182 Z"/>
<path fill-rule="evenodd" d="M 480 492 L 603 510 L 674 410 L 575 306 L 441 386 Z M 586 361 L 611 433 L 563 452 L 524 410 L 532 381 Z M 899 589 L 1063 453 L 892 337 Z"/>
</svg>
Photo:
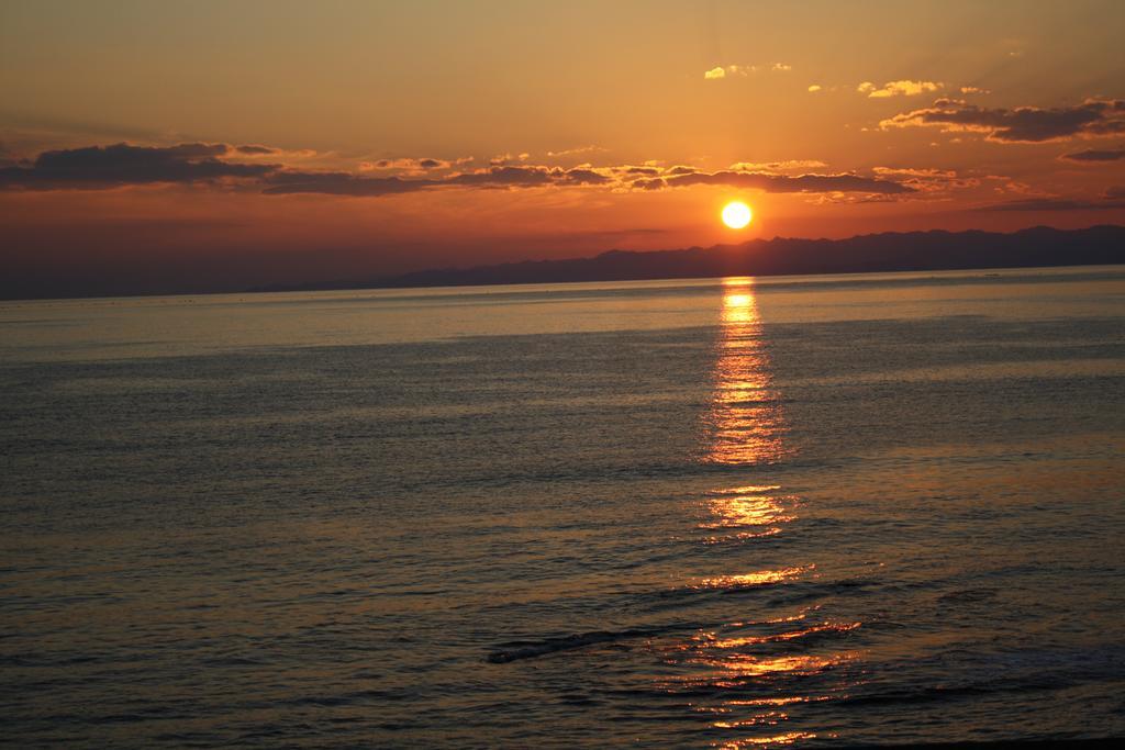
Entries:
<svg viewBox="0 0 1125 750">
<path fill-rule="evenodd" d="M 0 305 L 0 741 L 1125 734 L 1125 269 Z"/>
</svg>

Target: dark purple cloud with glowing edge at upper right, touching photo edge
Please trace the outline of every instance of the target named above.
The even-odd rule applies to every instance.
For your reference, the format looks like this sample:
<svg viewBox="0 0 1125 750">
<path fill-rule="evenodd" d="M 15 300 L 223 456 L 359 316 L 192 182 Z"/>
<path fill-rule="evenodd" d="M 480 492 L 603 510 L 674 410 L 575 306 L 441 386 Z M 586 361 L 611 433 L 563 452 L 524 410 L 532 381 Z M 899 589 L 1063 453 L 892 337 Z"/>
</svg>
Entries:
<svg viewBox="0 0 1125 750">
<path fill-rule="evenodd" d="M 1041 143 L 1073 136 L 1125 133 L 1125 100 L 1087 99 L 1076 107 L 987 109 L 960 99 L 938 99 L 933 107 L 881 121 L 892 127 L 940 127 L 944 132 L 984 133 L 989 141 Z"/>
</svg>

